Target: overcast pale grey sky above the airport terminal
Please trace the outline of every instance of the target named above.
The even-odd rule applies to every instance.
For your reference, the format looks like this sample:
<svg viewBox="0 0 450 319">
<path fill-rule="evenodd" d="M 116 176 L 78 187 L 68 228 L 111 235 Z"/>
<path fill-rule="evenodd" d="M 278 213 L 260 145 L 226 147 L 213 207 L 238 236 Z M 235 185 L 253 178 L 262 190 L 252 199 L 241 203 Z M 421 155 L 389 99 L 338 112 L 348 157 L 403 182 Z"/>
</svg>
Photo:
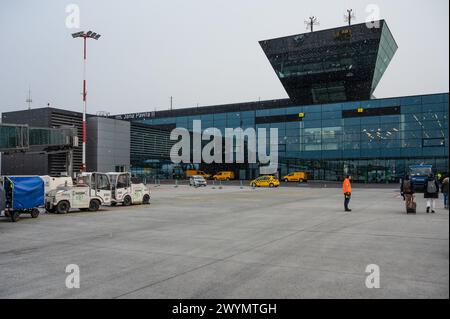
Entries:
<svg viewBox="0 0 450 319">
<path fill-rule="evenodd" d="M 80 29 L 66 27 L 68 4 Z M 449 90 L 448 0 L 1 0 L 0 112 L 32 107 L 81 111 L 82 41 L 88 41 L 88 112 L 112 114 L 287 97 L 258 41 L 327 29 L 353 8 L 364 22 L 377 4 L 399 49 L 375 95 Z"/>
</svg>

